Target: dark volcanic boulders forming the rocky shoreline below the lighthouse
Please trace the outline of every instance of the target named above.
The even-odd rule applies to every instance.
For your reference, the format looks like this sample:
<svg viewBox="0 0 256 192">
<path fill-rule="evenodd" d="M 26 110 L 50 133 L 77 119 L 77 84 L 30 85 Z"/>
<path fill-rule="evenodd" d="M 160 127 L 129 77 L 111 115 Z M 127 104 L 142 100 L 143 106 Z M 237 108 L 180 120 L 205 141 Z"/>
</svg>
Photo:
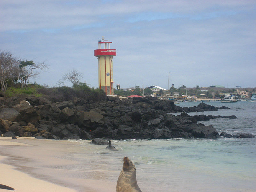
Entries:
<svg viewBox="0 0 256 192">
<path fill-rule="evenodd" d="M 152 97 L 106 97 L 97 103 L 79 98 L 57 103 L 42 97 L 1 98 L 0 135 L 46 139 L 215 139 L 220 137 L 216 129 L 198 121 L 236 116 L 189 116 L 187 113 L 218 109 L 229 108 L 205 103 L 181 108 L 172 101 Z M 182 113 L 172 115 L 176 112 Z M 225 137 L 233 137 L 227 135 Z M 241 133 L 234 137 L 253 138 L 254 135 Z"/>
</svg>

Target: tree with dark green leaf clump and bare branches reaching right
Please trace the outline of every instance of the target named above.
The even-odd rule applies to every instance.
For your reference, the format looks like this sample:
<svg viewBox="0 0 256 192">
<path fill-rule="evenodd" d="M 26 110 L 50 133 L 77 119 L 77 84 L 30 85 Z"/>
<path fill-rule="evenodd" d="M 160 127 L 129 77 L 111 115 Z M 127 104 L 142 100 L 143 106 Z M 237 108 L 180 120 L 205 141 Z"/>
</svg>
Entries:
<svg viewBox="0 0 256 192">
<path fill-rule="evenodd" d="M 41 73 L 40 71 L 37 71 L 37 69 L 47 71 L 48 66 L 44 63 L 34 63 L 33 60 L 20 62 L 16 74 L 21 82 L 21 88 L 26 87 L 29 78 L 36 78 Z"/>
</svg>

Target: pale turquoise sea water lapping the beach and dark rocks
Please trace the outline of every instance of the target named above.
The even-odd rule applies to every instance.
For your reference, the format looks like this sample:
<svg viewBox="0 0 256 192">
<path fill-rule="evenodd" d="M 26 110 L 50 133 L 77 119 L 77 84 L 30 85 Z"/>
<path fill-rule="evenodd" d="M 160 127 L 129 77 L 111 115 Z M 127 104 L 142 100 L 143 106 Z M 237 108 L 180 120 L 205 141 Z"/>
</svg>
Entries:
<svg viewBox="0 0 256 192">
<path fill-rule="evenodd" d="M 180 106 L 197 106 L 199 103 L 184 102 Z M 189 115 L 236 115 L 237 119 L 219 118 L 202 123 L 213 125 L 219 133 L 245 132 L 256 135 L 256 103 L 212 101 L 207 104 L 216 107 L 224 105 L 231 110 Z M 70 142 L 75 143 L 76 148 L 65 158 L 77 164 L 59 169 L 83 170 L 88 173 L 83 175 L 86 179 L 116 182 L 122 169 L 121 160 L 128 156 L 136 166 L 137 182 L 144 192 L 256 191 L 256 139 L 112 140 L 112 145 L 118 151 L 91 145 L 89 140 Z"/>
</svg>

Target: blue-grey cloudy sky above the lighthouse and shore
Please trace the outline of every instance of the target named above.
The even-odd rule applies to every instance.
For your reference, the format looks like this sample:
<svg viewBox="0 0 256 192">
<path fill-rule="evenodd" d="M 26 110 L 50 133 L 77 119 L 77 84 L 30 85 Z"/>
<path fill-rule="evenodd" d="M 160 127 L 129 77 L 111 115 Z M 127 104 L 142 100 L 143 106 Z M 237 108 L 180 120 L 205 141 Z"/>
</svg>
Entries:
<svg viewBox="0 0 256 192">
<path fill-rule="evenodd" d="M 112 41 L 121 88 L 256 86 L 256 1 L 2 0 L 0 50 L 45 62 L 38 84 L 72 69 L 98 87 L 98 40 Z M 71 83 L 65 81 L 66 86 Z"/>
</svg>

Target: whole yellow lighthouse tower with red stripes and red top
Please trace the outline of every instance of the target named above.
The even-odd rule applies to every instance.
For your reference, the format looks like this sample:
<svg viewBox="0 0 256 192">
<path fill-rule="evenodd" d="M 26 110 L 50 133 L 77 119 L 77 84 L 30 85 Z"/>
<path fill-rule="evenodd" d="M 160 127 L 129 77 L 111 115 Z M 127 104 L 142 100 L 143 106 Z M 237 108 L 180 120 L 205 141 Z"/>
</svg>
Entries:
<svg viewBox="0 0 256 192">
<path fill-rule="evenodd" d="M 94 56 L 98 57 L 99 88 L 103 89 L 106 95 L 113 95 L 113 57 L 116 56 L 116 49 L 110 49 L 110 43 L 102 37 L 98 41 L 98 49 L 94 50 Z M 103 48 L 102 48 L 103 46 Z"/>
</svg>

